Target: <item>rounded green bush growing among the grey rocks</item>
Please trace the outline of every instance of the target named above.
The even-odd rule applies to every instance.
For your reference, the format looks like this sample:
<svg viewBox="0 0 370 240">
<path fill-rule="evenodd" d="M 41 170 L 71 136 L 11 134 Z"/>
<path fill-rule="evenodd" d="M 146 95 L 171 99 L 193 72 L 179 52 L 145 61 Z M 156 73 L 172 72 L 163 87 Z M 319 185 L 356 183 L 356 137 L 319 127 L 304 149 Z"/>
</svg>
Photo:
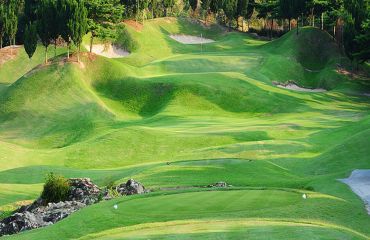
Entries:
<svg viewBox="0 0 370 240">
<path fill-rule="evenodd" d="M 69 183 L 67 179 L 54 173 L 47 175 L 44 190 L 41 194 L 41 198 L 46 203 L 65 201 L 67 200 L 68 193 Z"/>
</svg>

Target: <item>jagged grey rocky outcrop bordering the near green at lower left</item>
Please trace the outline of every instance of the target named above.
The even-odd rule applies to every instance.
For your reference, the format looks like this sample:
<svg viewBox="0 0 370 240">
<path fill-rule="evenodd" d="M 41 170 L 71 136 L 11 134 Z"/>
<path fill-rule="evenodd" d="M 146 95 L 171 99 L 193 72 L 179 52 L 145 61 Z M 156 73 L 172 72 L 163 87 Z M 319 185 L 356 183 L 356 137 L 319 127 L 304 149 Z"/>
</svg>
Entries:
<svg viewBox="0 0 370 240">
<path fill-rule="evenodd" d="M 42 198 L 38 198 L 32 204 L 20 207 L 13 215 L 0 221 L 0 236 L 54 224 L 87 205 L 112 198 L 109 191 L 101 190 L 89 178 L 71 178 L 69 185 L 66 201 L 46 203 Z M 133 179 L 118 185 L 116 190 L 120 195 L 148 192 L 141 183 Z"/>
</svg>

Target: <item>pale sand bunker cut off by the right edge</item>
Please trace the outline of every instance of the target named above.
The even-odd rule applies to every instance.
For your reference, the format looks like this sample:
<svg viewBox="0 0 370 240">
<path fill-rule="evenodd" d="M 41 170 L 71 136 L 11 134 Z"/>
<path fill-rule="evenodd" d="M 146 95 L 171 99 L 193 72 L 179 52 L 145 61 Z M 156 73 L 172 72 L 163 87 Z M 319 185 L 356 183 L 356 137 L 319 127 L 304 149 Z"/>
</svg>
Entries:
<svg viewBox="0 0 370 240">
<path fill-rule="evenodd" d="M 339 180 L 350 186 L 352 191 L 365 202 L 366 210 L 370 215 L 370 169 L 354 170 L 349 178 Z"/>
</svg>

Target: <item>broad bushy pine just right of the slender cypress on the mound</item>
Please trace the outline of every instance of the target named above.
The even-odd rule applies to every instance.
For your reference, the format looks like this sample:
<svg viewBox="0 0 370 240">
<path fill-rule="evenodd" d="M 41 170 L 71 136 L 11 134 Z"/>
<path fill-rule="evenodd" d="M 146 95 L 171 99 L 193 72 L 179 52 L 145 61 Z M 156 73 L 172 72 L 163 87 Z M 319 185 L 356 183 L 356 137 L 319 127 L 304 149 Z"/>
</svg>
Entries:
<svg viewBox="0 0 370 240">
<path fill-rule="evenodd" d="M 94 38 L 114 36 L 114 26 L 123 17 L 124 7 L 118 0 L 89 0 L 85 2 L 88 12 L 88 30 L 91 33 L 90 52 Z"/>
</svg>

